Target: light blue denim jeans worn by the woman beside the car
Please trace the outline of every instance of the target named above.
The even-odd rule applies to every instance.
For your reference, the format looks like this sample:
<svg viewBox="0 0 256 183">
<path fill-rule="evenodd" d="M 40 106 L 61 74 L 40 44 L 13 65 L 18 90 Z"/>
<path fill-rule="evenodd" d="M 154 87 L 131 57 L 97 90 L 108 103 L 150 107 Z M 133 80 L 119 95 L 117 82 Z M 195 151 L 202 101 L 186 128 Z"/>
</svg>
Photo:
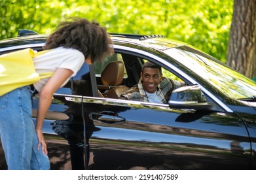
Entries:
<svg viewBox="0 0 256 183">
<path fill-rule="evenodd" d="M 48 156 L 37 150 L 29 86 L 0 97 L 0 137 L 8 169 L 50 169 Z"/>
</svg>

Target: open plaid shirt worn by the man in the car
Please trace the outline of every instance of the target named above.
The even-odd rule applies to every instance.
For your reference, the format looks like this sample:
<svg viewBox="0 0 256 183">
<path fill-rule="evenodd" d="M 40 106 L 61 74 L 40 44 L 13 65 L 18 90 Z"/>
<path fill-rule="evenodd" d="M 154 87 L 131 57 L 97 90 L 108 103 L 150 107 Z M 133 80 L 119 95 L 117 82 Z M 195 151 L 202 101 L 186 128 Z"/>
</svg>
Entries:
<svg viewBox="0 0 256 183">
<path fill-rule="evenodd" d="M 167 104 L 172 94 L 172 91 L 184 85 L 184 82 L 179 82 L 170 78 L 163 78 L 162 82 L 160 82 L 160 84 L 156 88 L 156 94 L 158 95 L 162 103 Z M 149 102 L 147 94 L 143 90 L 141 80 L 139 80 L 139 83 L 136 84 L 136 86 L 133 86 L 132 88 L 130 88 L 130 90 L 122 93 L 122 95 L 120 95 L 120 99 Z"/>
</svg>

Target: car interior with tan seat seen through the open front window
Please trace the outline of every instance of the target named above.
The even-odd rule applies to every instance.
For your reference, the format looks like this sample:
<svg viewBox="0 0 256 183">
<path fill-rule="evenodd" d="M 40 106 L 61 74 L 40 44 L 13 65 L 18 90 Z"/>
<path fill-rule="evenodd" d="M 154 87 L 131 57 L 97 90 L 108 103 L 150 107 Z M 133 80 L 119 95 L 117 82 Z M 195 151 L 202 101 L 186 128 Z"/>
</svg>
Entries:
<svg viewBox="0 0 256 183">
<path fill-rule="evenodd" d="M 103 63 L 94 63 L 99 96 L 119 99 L 122 93 L 137 84 L 145 61 L 147 60 L 132 54 L 116 52 L 110 58 L 106 58 Z M 162 72 L 168 78 L 181 80 L 164 68 Z"/>
</svg>

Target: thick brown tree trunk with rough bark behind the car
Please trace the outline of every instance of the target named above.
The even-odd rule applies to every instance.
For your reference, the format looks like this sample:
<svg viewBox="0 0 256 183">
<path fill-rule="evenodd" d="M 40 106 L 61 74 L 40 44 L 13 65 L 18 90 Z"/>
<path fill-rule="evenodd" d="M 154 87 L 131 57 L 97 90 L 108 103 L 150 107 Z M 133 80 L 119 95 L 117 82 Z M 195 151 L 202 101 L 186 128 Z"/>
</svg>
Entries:
<svg viewBox="0 0 256 183">
<path fill-rule="evenodd" d="M 256 78 L 256 0 L 234 0 L 227 65 Z"/>
</svg>

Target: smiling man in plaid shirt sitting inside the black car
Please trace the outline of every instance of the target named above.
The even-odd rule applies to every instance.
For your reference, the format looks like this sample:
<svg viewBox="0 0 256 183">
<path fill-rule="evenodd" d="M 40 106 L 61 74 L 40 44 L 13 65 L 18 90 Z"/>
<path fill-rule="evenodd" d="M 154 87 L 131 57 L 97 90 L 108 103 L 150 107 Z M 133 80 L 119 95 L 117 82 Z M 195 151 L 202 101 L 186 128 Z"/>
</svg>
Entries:
<svg viewBox="0 0 256 183">
<path fill-rule="evenodd" d="M 141 69 L 141 78 L 120 99 L 167 104 L 173 90 L 185 86 L 185 82 L 164 78 L 159 65 L 147 61 Z"/>
</svg>

